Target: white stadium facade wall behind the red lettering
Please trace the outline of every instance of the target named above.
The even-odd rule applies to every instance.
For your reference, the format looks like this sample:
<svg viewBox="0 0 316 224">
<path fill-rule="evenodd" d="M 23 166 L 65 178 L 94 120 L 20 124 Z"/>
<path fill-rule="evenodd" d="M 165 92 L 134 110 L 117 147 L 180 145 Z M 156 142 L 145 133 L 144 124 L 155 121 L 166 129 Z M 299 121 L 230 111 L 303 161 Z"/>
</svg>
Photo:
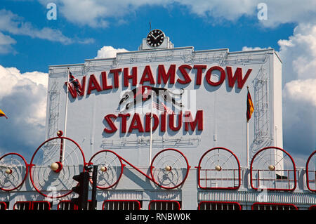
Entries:
<svg viewBox="0 0 316 224">
<path fill-rule="evenodd" d="M 154 154 L 166 147 L 173 147 L 185 154 L 190 166 L 197 166 L 202 154 L 211 147 L 227 147 L 232 150 L 242 166 L 246 166 L 246 93 L 249 86 L 251 97 L 254 101 L 254 79 L 258 77 L 261 67 L 265 67 L 272 84 L 270 86 L 269 99 L 270 107 L 270 136 L 275 139 L 275 128 L 277 126 L 277 146 L 282 146 L 282 95 L 281 95 L 281 63 L 276 58 L 272 49 L 263 51 L 242 51 L 229 53 L 228 49 L 210 50 L 210 51 L 194 51 L 192 47 L 161 49 L 157 51 L 134 51 L 127 53 L 118 53 L 117 58 L 104 60 L 86 60 L 84 64 L 79 65 L 60 65 L 51 66 L 49 75 L 48 90 L 57 86 L 60 93 L 59 113 L 55 122 L 57 129 L 63 131 L 65 119 L 65 81 L 67 79 L 67 67 L 74 77 L 82 80 L 86 76 L 85 94 L 79 98 L 68 98 L 67 105 L 67 137 L 77 141 L 84 150 L 86 161 L 99 150 L 109 149 L 117 152 L 126 160 L 135 166 L 149 165 L 149 139 L 150 133 L 119 133 L 119 130 L 113 134 L 107 134 L 103 130 L 106 127 L 105 115 L 117 114 L 116 109 L 121 98 L 122 91 L 131 90 L 135 86 L 129 88 L 122 87 L 122 72 L 119 74 L 119 88 L 113 88 L 107 91 L 92 91 L 87 95 L 89 77 L 94 74 L 102 87 L 101 72 L 107 72 L 116 68 L 138 67 L 138 84 L 143 73 L 145 65 L 150 65 L 155 81 L 157 81 L 157 66 L 164 65 L 168 70 L 169 65 L 176 64 L 176 79 L 183 79 L 178 67 L 180 65 L 206 65 L 207 69 L 202 73 L 202 84 L 196 85 L 195 78 L 197 70 L 190 71 L 192 81 L 190 84 L 181 85 L 167 84 L 166 87 L 171 91 L 179 91 L 184 88 L 186 93 L 192 94 L 194 97 L 192 102 L 195 103 L 196 110 L 203 110 L 203 131 L 186 132 L 180 129 L 178 132 L 171 130 L 161 133 L 154 131 L 152 133 L 152 157 Z M 233 88 L 228 86 L 228 78 L 220 86 L 210 86 L 205 79 L 206 71 L 213 66 L 220 66 L 224 70 L 227 66 L 232 67 L 234 74 L 237 67 L 242 68 L 243 76 L 246 71 L 251 69 L 251 74 L 244 84 L 243 88 L 237 88 L 237 83 Z M 214 73 L 218 74 L 218 71 Z M 227 72 L 226 72 L 227 73 Z M 213 75 L 215 78 L 216 75 Z M 216 81 L 216 79 L 211 79 Z M 107 77 L 108 85 L 112 84 L 112 77 Z M 145 83 L 145 84 L 148 84 Z M 161 87 L 164 85 L 155 85 Z M 53 102 L 48 96 L 48 107 Z M 147 102 L 149 103 L 149 102 Z M 51 104 L 54 104 L 51 103 Z M 47 117 L 53 110 L 47 110 Z M 192 114 L 195 114 L 192 112 Z M 130 119 L 127 121 L 129 128 Z M 142 119 L 143 121 L 143 119 Z M 274 123 L 273 123 L 274 121 Z M 46 125 L 49 129 L 49 121 Z M 254 114 L 249 121 L 249 145 L 254 141 Z M 119 123 L 116 123 L 119 127 Z M 51 127 L 54 127 L 51 124 Z M 57 131 L 57 130 L 56 130 Z M 48 133 L 48 131 L 46 131 Z M 165 141 L 163 141 L 163 138 Z M 178 142 L 178 144 L 177 144 Z M 270 144 L 270 142 L 268 143 Z M 272 142 L 271 145 L 275 143 Z M 262 144 L 261 144 L 262 145 Z M 261 145 L 255 145 L 254 152 Z M 263 144 L 264 145 L 264 144 Z M 253 153 L 253 152 L 252 152 Z"/>
</svg>

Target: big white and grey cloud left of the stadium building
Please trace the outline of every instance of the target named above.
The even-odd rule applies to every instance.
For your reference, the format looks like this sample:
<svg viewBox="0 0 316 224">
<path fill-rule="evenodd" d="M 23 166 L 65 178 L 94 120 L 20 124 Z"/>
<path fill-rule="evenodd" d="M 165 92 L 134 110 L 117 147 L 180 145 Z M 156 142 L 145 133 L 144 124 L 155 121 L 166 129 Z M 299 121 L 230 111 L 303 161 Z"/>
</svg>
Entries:
<svg viewBox="0 0 316 224">
<path fill-rule="evenodd" d="M 0 80 L 0 148 L 29 156 L 45 138 L 48 74 L 0 65 Z"/>
</svg>

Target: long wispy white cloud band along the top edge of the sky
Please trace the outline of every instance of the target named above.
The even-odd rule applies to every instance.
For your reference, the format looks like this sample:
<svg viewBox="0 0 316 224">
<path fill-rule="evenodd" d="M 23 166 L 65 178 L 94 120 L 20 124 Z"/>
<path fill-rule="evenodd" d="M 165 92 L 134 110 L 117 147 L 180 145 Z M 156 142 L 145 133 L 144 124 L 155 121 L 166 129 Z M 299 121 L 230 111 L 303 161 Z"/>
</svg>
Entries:
<svg viewBox="0 0 316 224">
<path fill-rule="evenodd" d="M 38 0 L 45 5 L 51 0 Z M 68 21 L 78 25 L 90 27 L 108 27 L 109 20 L 114 18 L 121 20 L 126 15 L 131 15 L 141 6 L 185 6 L 187 11 L 203 18 L 209 18 L 209 22 L 218 23 L 223 20 L 237 22 L 242 16 L 258 20 L 260 8 L 258 4 L 267 6 L 267 20 L 258 20 L 265 27 L 276 27 L 288 22 L 316 22 L 315 0 L 55 0 L 58 11 Z"/>
</svg>

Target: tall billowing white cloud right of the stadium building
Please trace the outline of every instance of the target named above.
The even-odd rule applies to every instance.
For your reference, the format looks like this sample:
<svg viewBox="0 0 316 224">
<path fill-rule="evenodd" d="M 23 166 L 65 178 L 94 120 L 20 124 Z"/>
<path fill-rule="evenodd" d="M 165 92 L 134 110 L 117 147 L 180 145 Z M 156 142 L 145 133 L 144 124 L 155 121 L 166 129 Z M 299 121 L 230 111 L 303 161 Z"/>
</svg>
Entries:
<svg viewBox="0 0 316 224">
<path fill-rule="evenodd" d="M 316 25 L 300 24 L 280 40 L 283 62 L 284 147 L 310 154 L 316 147 Z"/>
</svg>

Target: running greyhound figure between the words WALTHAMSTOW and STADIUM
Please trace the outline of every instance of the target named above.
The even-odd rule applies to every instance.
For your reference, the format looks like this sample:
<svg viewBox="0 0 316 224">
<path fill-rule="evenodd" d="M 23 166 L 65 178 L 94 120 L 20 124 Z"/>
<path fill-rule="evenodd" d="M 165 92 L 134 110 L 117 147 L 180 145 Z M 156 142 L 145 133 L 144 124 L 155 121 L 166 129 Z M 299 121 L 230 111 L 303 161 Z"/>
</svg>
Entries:
<svg viewBox="0 0 316 224">
<path fill-rule="evenodd" d="M 159 87 L 152 87 L 152 86 L 138 86 L 136 88 L 133 88 L 131 91 L 127 91 L 126 93 L 124 93 L 123 97 L 119 101 L 117 111 L 120 111 L 121 105 L 124 104 L 129 99 L 133 99 L 133 101 L 126 104 L 125 110 L 129 110 L 129 108 L 131 108 L 131 105 L 136 105 L 136 103 L 138 103 L 137 100 L 141 99 L 141 102 L 150 100 L 150 98 L 152 97 L 152 94 L 156 96 L 157 101 L 159 101 L 158 97 L 159 95 L 161 95 L 162 98 L 164 98 L 164 100 L 169 101 L 173 103 L 174 105 L 177 105 L 178 107 L 183 107 L 183 104 L 177 102 L 174 98 L 174 95 L 183 95 L 183 93 L 184 93 L 183 88 L 181 88 L 180 93 L 173 93 L 169 91 L 169 89 L 166 89 L 166 88 L 159 88 Z"/>
</svg>

